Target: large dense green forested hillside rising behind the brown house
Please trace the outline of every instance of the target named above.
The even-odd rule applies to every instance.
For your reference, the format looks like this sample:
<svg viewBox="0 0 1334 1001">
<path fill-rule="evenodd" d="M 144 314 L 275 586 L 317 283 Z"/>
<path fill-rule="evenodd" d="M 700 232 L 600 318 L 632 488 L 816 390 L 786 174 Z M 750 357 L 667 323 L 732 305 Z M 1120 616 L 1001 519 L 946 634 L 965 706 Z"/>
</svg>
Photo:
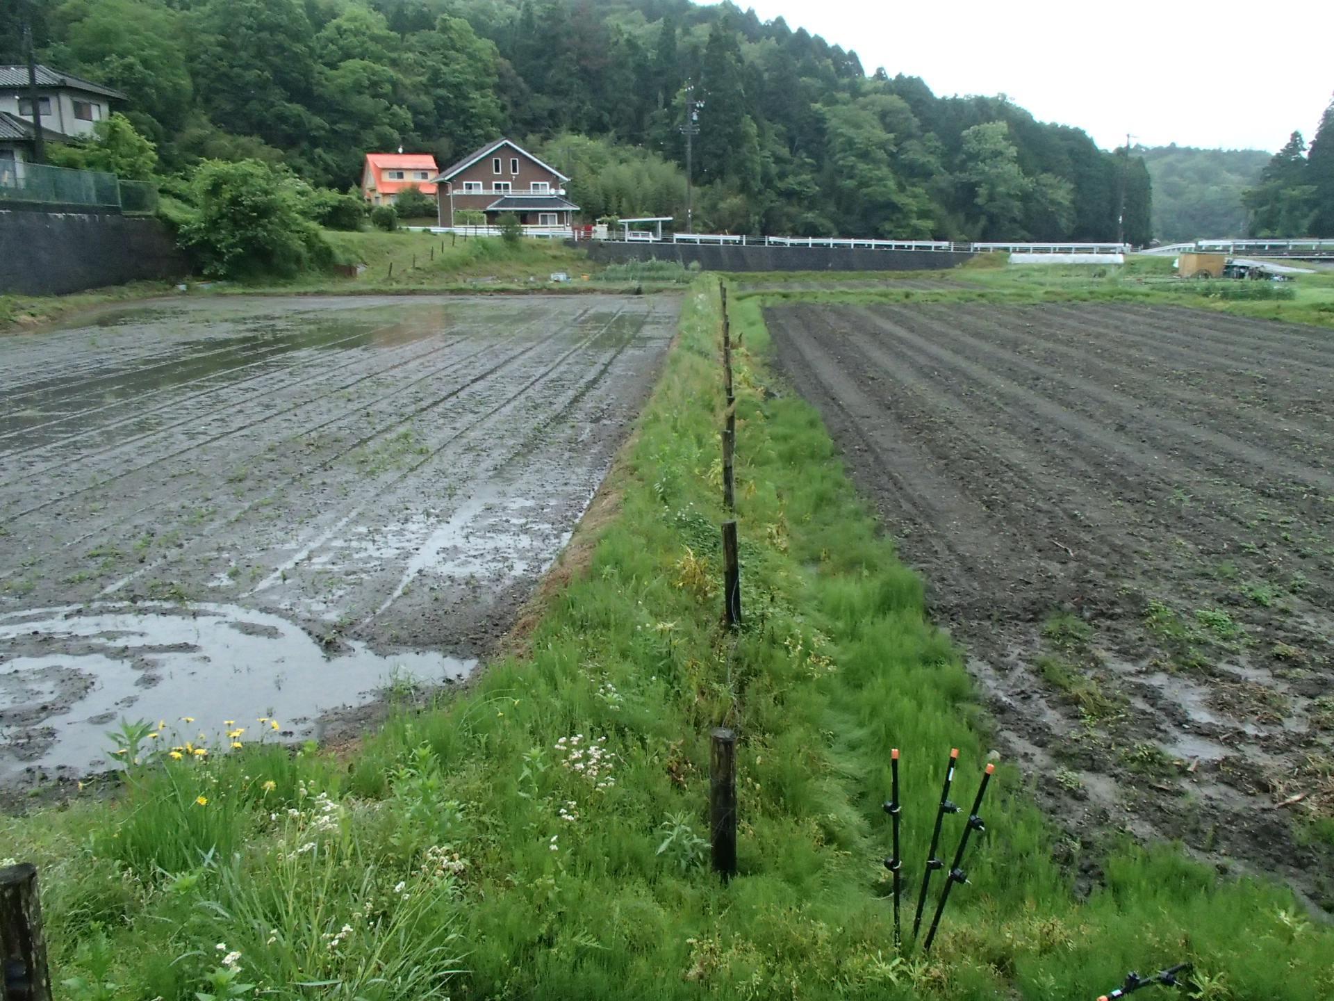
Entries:
<svg viewBox="0 0 1334 1001">
<path fill-rule="evenodd" d="M 680 216 L 692 81 L 696 228 L 1110 240 L 1125 200 L 1126 239 L 1151 235 L 1149 174 L 1129 151 L 1003 97 L 868 76 L 855 53 L 731 4 L 31 5 L 43 61 L 125 91 L 168 174 L 251 157 L 346 188 L 367 151 L 450 161 L 508 133 L 576 168 L 586 215 Z M 0 45 L 17 59 L 15 21 Z"/>
</svg>

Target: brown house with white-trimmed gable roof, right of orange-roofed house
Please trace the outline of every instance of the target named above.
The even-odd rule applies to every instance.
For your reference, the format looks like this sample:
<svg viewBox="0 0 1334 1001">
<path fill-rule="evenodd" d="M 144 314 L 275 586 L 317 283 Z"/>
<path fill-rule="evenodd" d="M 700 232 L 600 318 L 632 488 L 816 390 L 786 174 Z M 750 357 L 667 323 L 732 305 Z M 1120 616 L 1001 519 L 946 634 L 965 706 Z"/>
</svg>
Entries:
<svg viewBox="0 0 1334 1001">
<path fill-rule="evenodd" d="M 459 212 L 482 212 L 496 226 L 503 212 L 520 226 L 568 228 L 579 206 L 564 198 L 570 178 L 510 139 L 496 139 L 431 179 L 439 190 L 440 226 L 454 227 Z"/>
</svg>

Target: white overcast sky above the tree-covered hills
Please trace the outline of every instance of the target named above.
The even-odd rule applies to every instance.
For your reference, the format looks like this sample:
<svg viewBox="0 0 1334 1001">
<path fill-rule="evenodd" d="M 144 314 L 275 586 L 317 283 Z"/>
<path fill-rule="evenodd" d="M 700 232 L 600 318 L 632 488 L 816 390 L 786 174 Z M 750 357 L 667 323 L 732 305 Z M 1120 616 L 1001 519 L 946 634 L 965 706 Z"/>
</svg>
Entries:
<svg viewBox="0 0 1334 1001">
<path fill-rule="evenodd" d="M 1334 95 L 1334 0 L 734 0 L 938 95 L 1006 93 L 1113 148 L 1278 149 Z"/>
</svg>

